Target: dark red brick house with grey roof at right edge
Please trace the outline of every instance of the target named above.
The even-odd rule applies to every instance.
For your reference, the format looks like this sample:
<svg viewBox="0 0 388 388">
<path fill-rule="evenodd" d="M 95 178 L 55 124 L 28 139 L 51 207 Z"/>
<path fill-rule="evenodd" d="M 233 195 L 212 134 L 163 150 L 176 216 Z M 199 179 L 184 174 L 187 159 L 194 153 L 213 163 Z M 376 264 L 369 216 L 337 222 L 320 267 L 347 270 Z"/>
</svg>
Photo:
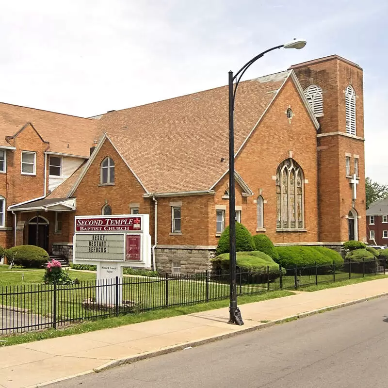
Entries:
<svg viewBox="0 0 388 388">
<path fill-rule="evenodd" d="M 388 198 L 376 201 L 367 210 L 367 240 L 371 245 L 388 244 Z"/>
</svg>

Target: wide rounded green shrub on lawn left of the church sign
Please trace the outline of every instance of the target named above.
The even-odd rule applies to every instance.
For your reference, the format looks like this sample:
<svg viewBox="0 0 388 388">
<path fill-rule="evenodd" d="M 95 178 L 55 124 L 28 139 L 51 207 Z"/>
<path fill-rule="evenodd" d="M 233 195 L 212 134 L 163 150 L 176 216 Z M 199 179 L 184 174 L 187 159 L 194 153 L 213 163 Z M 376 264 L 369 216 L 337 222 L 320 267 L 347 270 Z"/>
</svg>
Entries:
<svg viewBox="0 0 388 388">
<path fill-rule="evenodd" d="M 5 256 L 9 263 L 15 258 L 14 264 L 25 268 L 40 268 L 49 260 L 49 254 L 35 245 L 14 246 L 5 251 Z"/>
</svg>

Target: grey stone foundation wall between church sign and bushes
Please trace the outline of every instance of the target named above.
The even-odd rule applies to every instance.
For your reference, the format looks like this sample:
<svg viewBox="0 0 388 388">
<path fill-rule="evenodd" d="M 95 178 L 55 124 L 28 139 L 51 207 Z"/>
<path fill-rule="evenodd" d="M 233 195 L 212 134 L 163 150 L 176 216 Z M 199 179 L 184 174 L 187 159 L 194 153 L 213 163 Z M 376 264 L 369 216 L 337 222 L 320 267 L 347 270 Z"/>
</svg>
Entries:
<svg viewBox="0 0 388 388">
<path fill-rule="evenodd" d="M 171 273 L 174 262 L 182 274 L 202 273 L 211 269 L 210 259 L 215 256 L 215 248 L 159 245 L 155 248 L 156 270 Z"/>
</svg>

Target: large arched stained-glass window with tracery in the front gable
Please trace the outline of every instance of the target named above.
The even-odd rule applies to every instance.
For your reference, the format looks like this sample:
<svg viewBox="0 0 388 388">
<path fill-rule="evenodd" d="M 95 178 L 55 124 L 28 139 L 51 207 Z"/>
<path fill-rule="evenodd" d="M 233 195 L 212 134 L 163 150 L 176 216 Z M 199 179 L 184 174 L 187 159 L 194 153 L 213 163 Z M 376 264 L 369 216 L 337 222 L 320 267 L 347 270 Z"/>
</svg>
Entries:
<svg viewBox="0 0 388 388">
<path fill-rule="evenodd" d="M 303 229 L 304 184 L 302 168 L 293 159 L 282 162 L 276 171 L 276 227 Z"/>
</svg>

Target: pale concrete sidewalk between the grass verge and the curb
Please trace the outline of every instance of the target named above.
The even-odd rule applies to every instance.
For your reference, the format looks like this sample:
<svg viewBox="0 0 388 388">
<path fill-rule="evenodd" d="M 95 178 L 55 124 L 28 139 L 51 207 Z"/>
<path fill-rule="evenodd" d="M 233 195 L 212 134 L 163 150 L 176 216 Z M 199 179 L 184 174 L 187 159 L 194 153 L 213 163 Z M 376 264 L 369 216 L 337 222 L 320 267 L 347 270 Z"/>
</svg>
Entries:
<svg viewBox="0 0 388 388">
<path fill-rule="evenodd" d="M 388 278 L 241 305 L 243 326 L 228 324 L 228 308 L 220 308 L 3 347 L 0 387 L 45 385 L 386 294 Z"/>
</svg>

